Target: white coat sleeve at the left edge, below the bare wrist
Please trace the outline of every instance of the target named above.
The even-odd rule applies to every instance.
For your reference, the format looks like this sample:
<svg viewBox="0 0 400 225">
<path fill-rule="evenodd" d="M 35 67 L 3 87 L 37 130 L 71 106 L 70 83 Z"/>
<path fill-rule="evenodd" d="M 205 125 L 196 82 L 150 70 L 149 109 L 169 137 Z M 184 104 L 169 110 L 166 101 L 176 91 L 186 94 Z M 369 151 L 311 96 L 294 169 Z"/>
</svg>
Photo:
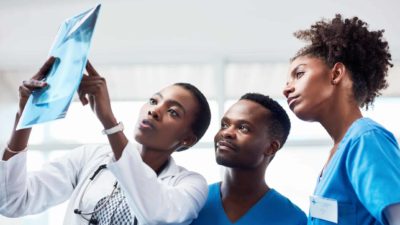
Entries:
<svg viewBox="0 0 400 225">
<path fill-rule="evenodd" d="M 0 161 L 0 214 L 36 214 L 67 200 L 78 182 L 83 154 L 82 149 L 74 150 L 30 173 L 25 152 Z"/>
</svg>

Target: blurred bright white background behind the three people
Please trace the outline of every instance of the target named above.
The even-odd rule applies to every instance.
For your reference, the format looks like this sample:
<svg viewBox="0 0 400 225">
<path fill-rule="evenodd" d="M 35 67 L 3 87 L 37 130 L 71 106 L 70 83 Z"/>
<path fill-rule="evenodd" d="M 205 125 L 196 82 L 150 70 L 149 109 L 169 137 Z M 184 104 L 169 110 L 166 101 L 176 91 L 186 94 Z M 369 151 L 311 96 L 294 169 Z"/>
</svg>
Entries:
<svg viewBox="0 0 400 225">
<path fill-rule="evenodd" d="M 0 0 L 0 146 L 10 134 L 18 86 L 47 58 L 59 25 L 93 7 L 91 0 Z M 395 67 L 389 88 L 365 112 L 400 138 L 400 3 L 395 0 L 114 0 L 102 9 L 89 58 L 108 82 L 113 110 L 132 136 L 138 108 L 160 88 L 175 82 L 198 86 L 209 99 L 213 118 L 205 137 L 189 151 L 175 153 L 179 164 L 219 181 L 213 136 L 219 118 L 246 92 L 270 95 L 287 109 L 281 94 L 289 58 L 303 45 L 292 33 L 335 13 L 358 16 L 372 29 L 385 29 Z M 289 110 L 288 110 L 289 112 Z M 308 211 L 312 193 L 330 149 L 327 133 L 289 112 L 292 132 L 268 168 L 267 183 Z M 28 167 L 62 156 L 86 143 L 106 143 L 102 127 L 75 98 L 65 119 L 34 128 Z M 2 191 L 2 190 L 0 190 Z M 40 215 L 0 225 L 61 224 L 65 204 Z"/>
</svg>

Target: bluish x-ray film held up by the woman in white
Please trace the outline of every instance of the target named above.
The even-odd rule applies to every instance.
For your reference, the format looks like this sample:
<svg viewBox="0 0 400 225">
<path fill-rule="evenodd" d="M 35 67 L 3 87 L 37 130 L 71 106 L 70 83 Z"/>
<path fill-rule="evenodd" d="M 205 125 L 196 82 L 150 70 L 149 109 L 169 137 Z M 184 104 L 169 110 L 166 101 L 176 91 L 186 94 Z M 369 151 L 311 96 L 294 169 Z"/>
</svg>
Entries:
<svg viewBox="0 0 400 225">
<path fill-rule="evenodd" d="M 85 69 L 100 4 L 64 21 L 51 47 L 56 60 L 47 74 L 47 86 L 33 91 L 17 129 L 64 118 Z"/>
</svg>

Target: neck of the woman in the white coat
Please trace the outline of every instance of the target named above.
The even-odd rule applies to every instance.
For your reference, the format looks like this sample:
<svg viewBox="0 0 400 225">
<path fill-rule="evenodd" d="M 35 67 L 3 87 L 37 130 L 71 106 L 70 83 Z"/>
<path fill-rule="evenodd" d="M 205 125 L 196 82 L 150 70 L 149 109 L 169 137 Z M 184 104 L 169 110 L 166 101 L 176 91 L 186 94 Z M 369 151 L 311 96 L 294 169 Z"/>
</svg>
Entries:
<svg viewBox="0 0 400 225">
<path fill-rule="evenodd" d="M 140 152 L 143 162 L 150 166 L 157 174 L 161 173 L 162 169 L 164 169 L 171 154 L 168 151 L 149 149 L 145 146 L 142 146 Z"/>
</svg>

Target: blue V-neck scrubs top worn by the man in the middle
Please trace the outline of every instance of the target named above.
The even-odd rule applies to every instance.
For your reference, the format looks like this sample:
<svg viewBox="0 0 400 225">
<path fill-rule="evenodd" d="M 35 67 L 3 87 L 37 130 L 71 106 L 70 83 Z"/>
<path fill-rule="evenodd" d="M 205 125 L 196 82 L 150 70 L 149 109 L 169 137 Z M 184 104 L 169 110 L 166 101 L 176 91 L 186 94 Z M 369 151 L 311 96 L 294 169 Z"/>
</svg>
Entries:
<svg viewBox="0 0 400 225">
<path fill-rule="evenodd" d="M 192 225 L 305 225 L 307 217 L 289 199 L 269 190 L 249 211 L 234 223 L 225 214 L 220 183 L 209 186 L 208 198 Z"/>
</svg>

